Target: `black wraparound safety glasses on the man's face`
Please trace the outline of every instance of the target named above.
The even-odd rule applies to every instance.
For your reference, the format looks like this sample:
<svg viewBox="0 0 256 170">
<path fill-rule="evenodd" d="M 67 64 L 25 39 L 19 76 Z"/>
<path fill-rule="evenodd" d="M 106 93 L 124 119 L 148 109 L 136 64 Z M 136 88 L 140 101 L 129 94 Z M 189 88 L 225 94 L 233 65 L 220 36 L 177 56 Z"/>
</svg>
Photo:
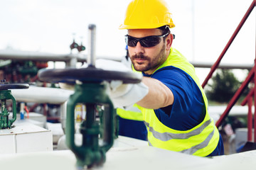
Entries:
<svg viewBox="0 0 256 170">
<path fill-rule="evenodd" d="M 144 38 L 134 38 L 130 35 L 125 35 L 125 42 L 129 47 L 136 47 L 137 42 L 139 42 L 142 47 L 154 47 L 161 42 L 161 38 L 166 37 L 169 33 L 164 35 L 151 35 Z"/>
</svg>

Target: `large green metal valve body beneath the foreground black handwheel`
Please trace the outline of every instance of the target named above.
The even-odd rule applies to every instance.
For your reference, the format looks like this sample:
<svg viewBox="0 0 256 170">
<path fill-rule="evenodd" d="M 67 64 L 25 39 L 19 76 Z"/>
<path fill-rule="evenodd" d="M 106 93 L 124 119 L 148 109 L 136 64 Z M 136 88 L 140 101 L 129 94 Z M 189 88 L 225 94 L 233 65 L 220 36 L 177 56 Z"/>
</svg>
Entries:
<svg viewBox="0 0 256 170">
<path fill-rule="evenodd" d="M 86 106 L 85 120 L 80 125 L 81 146 L 75 145 L 76 103 L 84 103 Z M 96 108 L 100 106 L 104 108 L 103 112 L 100 111 L 102 120 L 96 120 Z M 75 93 L 70 96 L 67 104 L 66 144 L 75 154 L 78 167 L 91 167 L 105 162 L 105 154 L 114 142 L 115 117 L 105 84 L 75 84 Z"/>
</svg>

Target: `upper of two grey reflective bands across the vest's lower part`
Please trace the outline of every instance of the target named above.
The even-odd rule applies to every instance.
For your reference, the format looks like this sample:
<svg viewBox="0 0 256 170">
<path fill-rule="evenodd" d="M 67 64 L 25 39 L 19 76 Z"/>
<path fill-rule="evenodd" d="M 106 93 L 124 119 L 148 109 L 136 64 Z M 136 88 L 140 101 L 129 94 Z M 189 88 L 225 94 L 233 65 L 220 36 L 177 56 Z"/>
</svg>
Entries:
<svg viewBox="0 0 256 170">
<path fill-rule="evenodd" d="M 153 136 L 161 141 L 168 141 L 168 140 L 186 140 L 191 136 L 195 136 L 195 135 L 199 135 L 208 125 L 210 125 L 210 123 L 212 122 L 212 120 L 207 120 L 205 123 L 203 123 L 203 125 L 201 125 L 199 128 L 197 128 L 196 130 L 193 130 L 191 132 L 188 133 L 171 133 L 171 132 L 157 132 L 154 130 L 153 127 L 149 126 L 149 123 L 146 123 L 144 121 L 144 124 L 146 125 L 147 128 L 149 128 L 149 132 L 152 132 Z"/>
</svg>

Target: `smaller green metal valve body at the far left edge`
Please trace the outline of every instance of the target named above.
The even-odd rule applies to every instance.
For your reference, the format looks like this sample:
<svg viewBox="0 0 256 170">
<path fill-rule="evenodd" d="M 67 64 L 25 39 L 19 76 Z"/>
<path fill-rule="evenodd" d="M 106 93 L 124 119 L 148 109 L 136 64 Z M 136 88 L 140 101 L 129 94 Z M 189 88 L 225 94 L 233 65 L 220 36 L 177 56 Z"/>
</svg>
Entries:
<svg viewBox="0 0 256 170">
<path fill-rule="evenodd" d="M 12 118 L 9 119 L 9 111 L 6 108 L 6 100 L 11 99 L 12 101 Z M 1 113 L 0 113 L 0 129 L 11 128 L 11 125 L 16 120 L 16 100 L 14 96 L 11 95 L 10 90 L 0 91 L 1 100 Z"/>
</svg>

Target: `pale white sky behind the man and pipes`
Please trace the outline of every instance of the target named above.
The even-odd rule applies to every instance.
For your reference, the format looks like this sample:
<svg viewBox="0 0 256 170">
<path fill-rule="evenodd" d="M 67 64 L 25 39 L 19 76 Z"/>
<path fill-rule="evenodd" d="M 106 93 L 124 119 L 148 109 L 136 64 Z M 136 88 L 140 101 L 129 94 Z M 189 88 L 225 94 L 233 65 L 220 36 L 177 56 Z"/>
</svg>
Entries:
<svg viewBox="0 0 256 170">
<path fill-rule="evenodd" d="M 75 41 L 88 44 L 88 26 L 96 25 L 96 56 L 124 57 L 119 30 L 130 0 L 1 0 L 0 50 L 70 53 Z M 215 62 L 252 0 L 166 0 L 176 35 L 173 47 L 191 62 Z M 87 54 L 87 50 L 83 52 Z M 252 64 L 255 59 L 255 9 L 223 63 Z M 199 77 L 209 71 L 198 69 Z M 239 73 L 238 73 L 239 74 Z M 203 81 L 204 78 L 201 78 Z"/>
</svg>

